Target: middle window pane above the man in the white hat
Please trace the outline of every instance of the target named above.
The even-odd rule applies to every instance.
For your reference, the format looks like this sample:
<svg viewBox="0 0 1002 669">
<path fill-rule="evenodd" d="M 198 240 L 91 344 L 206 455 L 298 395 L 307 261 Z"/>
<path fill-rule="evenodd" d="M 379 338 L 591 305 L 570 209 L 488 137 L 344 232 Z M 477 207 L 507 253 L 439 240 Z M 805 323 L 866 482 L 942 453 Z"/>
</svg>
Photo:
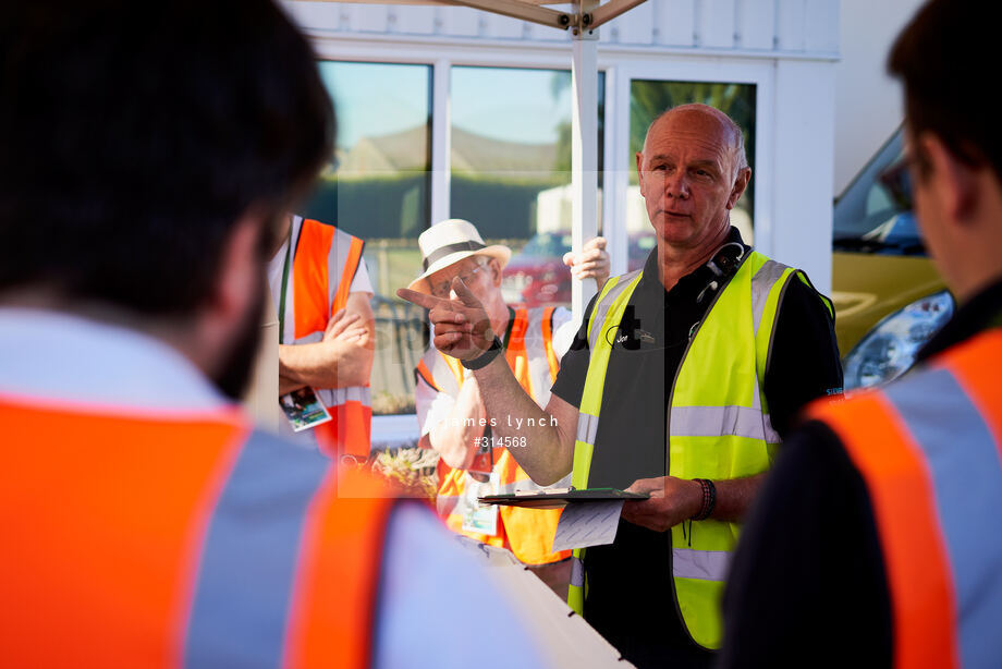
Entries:
<svg viewBox="0 0 1002 669">
<path fill-rule="evenodd" d="M 602 74 L 598 92 L 601 175 Z M 567 70 L 452 69 L 451 212 L 512 248 L 510 304 L 571 301 L 571 94 Z"/>
</svg>

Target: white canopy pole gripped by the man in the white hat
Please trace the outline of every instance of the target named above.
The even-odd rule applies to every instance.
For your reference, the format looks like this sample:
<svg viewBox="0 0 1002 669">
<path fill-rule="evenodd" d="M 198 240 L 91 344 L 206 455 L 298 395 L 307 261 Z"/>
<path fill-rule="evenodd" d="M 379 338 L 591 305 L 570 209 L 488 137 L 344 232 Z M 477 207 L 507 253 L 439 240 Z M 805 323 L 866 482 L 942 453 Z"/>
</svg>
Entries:
<svg viewBox="0 0 1002 669">
<path fill-rule="evenodd" d="M 577 16 L 583 16 L 599 2 L 577 0 L 575 4 L 581 4 Z M 571 247 L 574 253 L 581 253 L 585 242 L 598 234 L 598 32 L 582 28 L 579 25 L 572 28 Z M 581 321 L 595 292 L 591 279 L 572 282 L 571 306 L 576 321 Z"/>
</svg>

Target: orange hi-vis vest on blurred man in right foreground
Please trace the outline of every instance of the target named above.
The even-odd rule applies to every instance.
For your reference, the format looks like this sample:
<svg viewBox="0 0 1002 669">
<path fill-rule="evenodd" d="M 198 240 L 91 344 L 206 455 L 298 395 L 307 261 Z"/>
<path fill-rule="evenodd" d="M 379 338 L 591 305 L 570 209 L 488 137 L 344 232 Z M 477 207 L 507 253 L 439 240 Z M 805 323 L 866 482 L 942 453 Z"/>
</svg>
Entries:
<svg viewBox="0 0 1002 669">
<path fill-rule="evenodd" d="M 1002 664 L 1002 330 L 888 388 L 815 404 L 863 476 L 891 600 L 894 667 Z"/>
</svg>

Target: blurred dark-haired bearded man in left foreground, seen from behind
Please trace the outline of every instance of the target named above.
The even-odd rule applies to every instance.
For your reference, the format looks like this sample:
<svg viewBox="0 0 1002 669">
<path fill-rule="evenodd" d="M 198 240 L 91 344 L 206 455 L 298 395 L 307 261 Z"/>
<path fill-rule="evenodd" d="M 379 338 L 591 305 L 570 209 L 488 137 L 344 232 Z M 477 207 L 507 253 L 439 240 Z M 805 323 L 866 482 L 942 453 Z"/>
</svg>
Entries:
<svg viewBox="0 0 1002 669">
<path fill-rule="evenodd" d="M 271 2 L 7 9 L 4 666 L 460 667 L 485 638 L 479 666 L 538 666 L 432 513 L 345 498 L 233 403 L 278 219 L 333 133 Z"/>
</svg>

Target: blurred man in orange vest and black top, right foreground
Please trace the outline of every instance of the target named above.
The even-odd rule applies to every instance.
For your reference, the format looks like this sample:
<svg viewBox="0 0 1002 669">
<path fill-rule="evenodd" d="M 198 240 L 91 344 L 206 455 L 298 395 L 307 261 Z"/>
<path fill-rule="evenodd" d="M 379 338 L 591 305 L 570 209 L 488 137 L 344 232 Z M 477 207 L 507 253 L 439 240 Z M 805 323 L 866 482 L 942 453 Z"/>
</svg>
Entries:
<svg viewBox="0 0 1002 669">
<path fill-rule="evenodd" d="M 891 50 L 916 217 L 960 308 L 911 373 L 786 441 L 735 558 L 724 667 L 1002 666 L 1002 134 L 969 97 L 999 19 L 934 0 Z"/>
</svg>

